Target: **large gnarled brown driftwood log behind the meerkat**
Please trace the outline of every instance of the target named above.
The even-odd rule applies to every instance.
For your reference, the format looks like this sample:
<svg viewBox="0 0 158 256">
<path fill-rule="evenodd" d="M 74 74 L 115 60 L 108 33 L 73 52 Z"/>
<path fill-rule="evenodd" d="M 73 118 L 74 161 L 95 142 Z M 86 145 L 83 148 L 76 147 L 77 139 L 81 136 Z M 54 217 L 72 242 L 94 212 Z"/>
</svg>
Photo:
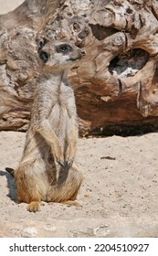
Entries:
<svg viewBox="0 0 158 256">
<path fill-rule="evenodd" d="M 81 135 L 158 129 L 158 1 L 26 0 L 0 16 L 0 130 L 26 131 L 41 38 L 87 51 L 69 73 Z"/>
</svg>

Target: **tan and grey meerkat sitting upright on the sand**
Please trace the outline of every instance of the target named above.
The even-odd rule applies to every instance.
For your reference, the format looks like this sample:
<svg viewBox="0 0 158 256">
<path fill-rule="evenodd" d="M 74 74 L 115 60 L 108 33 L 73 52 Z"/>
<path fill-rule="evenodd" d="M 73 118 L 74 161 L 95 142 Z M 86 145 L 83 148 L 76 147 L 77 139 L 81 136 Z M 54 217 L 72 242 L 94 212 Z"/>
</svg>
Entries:
<svg viewBox="0 0 158 256">
<path fill-rule="evenodd" d="M 41 201 L 76 204 L 83 175 L 76 164 L 78 122 L 68 70 L 85 55 L 73 42 L 48 42 L 38 51 L 42 72 L 16 177 L 18 202 L 36 212 Z"/>
</svg>

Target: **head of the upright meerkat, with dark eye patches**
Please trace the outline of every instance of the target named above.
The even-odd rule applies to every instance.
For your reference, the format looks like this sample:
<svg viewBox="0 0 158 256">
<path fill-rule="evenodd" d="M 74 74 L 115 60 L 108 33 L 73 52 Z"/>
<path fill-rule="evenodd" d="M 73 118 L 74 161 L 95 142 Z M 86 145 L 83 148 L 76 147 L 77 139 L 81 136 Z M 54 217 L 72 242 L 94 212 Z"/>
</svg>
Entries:
<svg viewBox="0 0 158 256">
<path fill-rule="evenodd" d="M 76 47 L 73 42 L 53 41 L 39 49 L 38 55 L 44 68 L 65 69 L 74 66 L 74 62 L 85 55 L 85 50 Z"/>
</svg>

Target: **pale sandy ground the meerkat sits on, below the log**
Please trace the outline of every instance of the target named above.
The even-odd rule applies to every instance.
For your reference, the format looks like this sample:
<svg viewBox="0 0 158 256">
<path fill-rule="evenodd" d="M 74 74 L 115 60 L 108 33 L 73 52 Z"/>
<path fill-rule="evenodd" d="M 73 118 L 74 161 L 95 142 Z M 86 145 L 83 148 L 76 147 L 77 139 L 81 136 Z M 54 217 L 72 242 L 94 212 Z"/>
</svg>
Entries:
<svg viewBox="0 0 158 256">
<path fill-rule="evenodd" d="M 82 208 L 16 204 L 15 168 L 26 133 L 0 132 L 1 237 L 157 237 L 158 134 L 79 139 Z"/>
</svg>

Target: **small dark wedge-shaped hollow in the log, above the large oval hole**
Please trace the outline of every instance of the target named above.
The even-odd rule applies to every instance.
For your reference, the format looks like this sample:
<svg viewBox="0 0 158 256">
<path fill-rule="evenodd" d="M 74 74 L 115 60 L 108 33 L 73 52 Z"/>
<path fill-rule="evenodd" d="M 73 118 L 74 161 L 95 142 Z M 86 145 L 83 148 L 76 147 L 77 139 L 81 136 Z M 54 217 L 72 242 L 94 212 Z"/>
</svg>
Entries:
<svg viewBox="0 0 158 256">
<path fill-rule="evenodd" d="M 93 25 L 90 24 L 91 31 L 94 37 L 96 37 L 98 40 L 103 40 L 106 37 L 110 37 L 111 35 L 119 32 L 119 30 L 115 28 L 110 28 L 110 27 L 103 27 L 100 25 Z"/>
</svg>

